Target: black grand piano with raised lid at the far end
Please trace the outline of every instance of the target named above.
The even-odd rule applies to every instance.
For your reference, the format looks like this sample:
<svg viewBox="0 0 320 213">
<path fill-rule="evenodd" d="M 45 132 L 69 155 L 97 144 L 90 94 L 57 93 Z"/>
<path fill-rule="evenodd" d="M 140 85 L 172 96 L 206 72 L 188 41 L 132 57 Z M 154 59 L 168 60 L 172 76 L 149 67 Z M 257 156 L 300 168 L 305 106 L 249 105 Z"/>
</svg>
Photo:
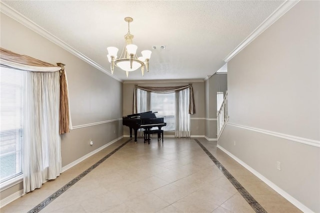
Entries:
<svg viewBox="0 0 320 213">
<path fill-rule="evenodd" d="M 137 131 L 139 128 L 150 129 L 152 127 L 166 126 L 163 122 L 163 117 L 156 117 L 156 112 L 146 111 L 136 114 L 129 114 L 122 117 L 122 124 L 126 125 L 130 129 L 130 138 L 132 138 L 132 128 L 134 130 L 134 142 L 136 142 Z"/>
</svg>

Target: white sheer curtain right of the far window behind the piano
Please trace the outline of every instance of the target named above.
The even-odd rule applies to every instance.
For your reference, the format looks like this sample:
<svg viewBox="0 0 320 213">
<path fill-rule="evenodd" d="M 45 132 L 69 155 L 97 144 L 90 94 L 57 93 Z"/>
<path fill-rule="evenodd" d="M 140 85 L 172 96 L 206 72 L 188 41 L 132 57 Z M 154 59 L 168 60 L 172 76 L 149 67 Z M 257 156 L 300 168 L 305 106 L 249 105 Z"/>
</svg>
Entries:
<svg viewBox="0 0 320 213">
<path fill-rule="evenodd" d="M 176 137 L 189 137 L 190 115 L 189 110 L 189 89 L 175 92 L 175 132 Z"/>
</svg>

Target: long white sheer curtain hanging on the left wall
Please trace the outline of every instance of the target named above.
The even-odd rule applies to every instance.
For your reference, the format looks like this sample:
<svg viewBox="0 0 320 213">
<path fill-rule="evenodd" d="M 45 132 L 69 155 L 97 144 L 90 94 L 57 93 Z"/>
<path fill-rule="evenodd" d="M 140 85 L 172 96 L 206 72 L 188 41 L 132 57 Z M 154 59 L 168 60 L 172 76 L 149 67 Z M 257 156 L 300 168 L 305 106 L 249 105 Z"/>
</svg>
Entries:
<svg viewBox="0 0 320 213">
<path fill-rule="evenodd" d="M 25 71 L 23 191 L 61 173 L 59 71 Z"/>
</svg>

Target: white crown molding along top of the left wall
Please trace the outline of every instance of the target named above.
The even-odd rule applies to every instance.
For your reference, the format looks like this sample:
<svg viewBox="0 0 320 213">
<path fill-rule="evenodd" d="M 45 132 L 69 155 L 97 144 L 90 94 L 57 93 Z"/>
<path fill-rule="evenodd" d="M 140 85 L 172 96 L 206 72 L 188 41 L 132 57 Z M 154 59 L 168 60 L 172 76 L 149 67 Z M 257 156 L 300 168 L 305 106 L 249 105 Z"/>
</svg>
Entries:
<svg viewBox="0 0 320 213">
<path fill-rule="evenodd" d="M 87 62 L 91 66 L 93 66 L 93 67 L 97 68 L 98 70 L 104 72 L 105 74 L 109 75 L 110 77 L 114 78 L 115 80 L 122 82 L 121 79 L 117 78 L 115 75 L 112 75 L 108 70 L 103 68 L 101 65 L 99 65 L 96 62 L 94 62 L 93 60 L 91 60 L 90 58 L 88 58 L 87 56 L 82 54 L 81 52 L 77 51 L 76 49 L 74 49 L 70 45 L 66 44 L 64 41 L 60 40 L 59 38 L 57 38 L 56 36 L 54 36 L 50 32 L 46 31 L 41 26 L 37 25 L 36 23 L 31 21 L 30 19 L 28 19 L 24 15 L 20 14 L 18 11 L 16 11 L 13 8 L 11 8 L 10 6 L 6 5 L 2 1 L 0 1 L 0 11 L 3 12 L 4 14 L 8 15 L 9 17 L 13 18 L 14 20 L 20 22 L 21 24 L 23 24 L 24 26 L 28 27 L 29 29 L 33 30 L 34 32 L 38 33 L 39 35 L 41 35 L 41 36 L 45 37 L 46 39 L 50 40 L 51 42 L 55 43 L 56 45 L 62 47 L 66 51 L 70 52 L 71 54 L 77 56 L 81 60 Z"/>
</svg>

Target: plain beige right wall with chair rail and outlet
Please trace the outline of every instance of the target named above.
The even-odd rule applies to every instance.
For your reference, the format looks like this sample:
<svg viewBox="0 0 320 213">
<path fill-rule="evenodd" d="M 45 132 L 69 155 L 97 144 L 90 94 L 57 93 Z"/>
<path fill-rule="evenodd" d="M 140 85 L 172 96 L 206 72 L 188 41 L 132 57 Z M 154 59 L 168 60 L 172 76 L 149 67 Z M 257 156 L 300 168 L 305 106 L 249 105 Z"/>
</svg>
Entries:
<svg viewBox="0 0 320 213">
<path fill-rule="evenodd" d="M 228 62 L 229 121 L 218 140 L 314 212 L 320 212 L 319 8 L 319 1 L 299 1 Z"/>
</svg>

